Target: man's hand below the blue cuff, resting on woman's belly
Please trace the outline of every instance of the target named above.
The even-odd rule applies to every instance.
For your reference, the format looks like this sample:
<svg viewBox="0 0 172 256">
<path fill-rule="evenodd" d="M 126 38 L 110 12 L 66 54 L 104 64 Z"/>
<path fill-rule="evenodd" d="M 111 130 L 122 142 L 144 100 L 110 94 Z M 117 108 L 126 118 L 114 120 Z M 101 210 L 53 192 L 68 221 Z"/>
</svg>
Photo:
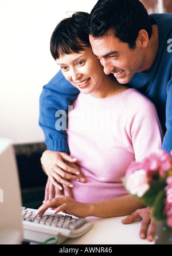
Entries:
<svg viewBox="0 0 172 256">
<path fill-rule="evenodd" d="M 64 152 L 46 150 L 41 157 L 44 172 L 59 190 L 63 189 L 63 185 L 73 187 L 73 184 L 68 180 L 86 182 L 76 162 L 77 159 L 73 159 L 73 157 Z"/>
</svg>

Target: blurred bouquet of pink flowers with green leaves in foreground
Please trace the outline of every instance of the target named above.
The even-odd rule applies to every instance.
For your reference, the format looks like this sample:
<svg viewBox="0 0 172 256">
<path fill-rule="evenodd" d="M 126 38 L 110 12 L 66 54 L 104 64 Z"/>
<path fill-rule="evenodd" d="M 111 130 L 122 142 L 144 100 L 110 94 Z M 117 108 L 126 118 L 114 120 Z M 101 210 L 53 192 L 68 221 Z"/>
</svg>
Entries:
<svg viewBox="0 0 172 256">
<path fill-rule="evenodd" d="M 172 244 L 172 157 L 160 150 L 142 162 L 131 163 L 123 182 L 128 193 L 153 209 L 155 220 L 167 225 L 162 229 L 170 229 Z"/>
</svg>

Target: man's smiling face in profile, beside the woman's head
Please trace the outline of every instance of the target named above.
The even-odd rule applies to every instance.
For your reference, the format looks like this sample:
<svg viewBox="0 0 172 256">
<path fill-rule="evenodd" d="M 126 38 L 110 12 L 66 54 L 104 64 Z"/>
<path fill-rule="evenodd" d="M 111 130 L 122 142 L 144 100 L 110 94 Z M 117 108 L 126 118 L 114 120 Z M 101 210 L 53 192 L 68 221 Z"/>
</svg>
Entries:
<svg viewBox="0 0 172 256">
<path fill-rule="evenodd" d="M 89 40 L 93 54 L 104 67 L 104 73 L 114 74 L 120 84 L 127 84 L 136 72 L 143 71 L 144 56 L 137 40 L 134 50 L 115 37 L 112 30 L 97 38 L 89 35 Z"/>
</svg>

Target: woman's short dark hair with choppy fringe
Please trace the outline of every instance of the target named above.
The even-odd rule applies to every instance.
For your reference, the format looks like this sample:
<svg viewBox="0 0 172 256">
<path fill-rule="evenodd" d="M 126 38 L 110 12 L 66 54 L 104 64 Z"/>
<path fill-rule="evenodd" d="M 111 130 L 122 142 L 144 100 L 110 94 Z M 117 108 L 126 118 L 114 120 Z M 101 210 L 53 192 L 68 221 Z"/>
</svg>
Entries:
<svg viewBox="0 0 172 256">
<path fill-rule="evenodd" d="M 88 17 L 88 13 L 77 12 L 57 25 L 50 40 L 50 51 L 54 59 L 64 54 L 78 53 L 90 46 Z"/>
</svg>

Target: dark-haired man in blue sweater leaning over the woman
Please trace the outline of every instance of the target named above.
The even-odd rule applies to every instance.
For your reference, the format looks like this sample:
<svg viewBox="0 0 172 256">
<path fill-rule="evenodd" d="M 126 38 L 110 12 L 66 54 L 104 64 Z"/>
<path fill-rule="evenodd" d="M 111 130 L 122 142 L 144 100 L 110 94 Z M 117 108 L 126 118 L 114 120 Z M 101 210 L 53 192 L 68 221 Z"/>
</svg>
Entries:
<svg viewBox="0 0 172 256">
<path fill-rule="evenodd" d="M 162 149 L 170 153 L 172 149 L 172 14 L 148 16 L 139 0 L 99 0 L 89 17 L 89 32 L 93 54 L 100 59 L 105 74 L 114 74 L 121 84 L 138 89 L 153 101 L 165 134 Z M 44 87 L 40 98 L 40 126 L 44 130 L 48 150 L 69 154 L 65 131 L 57 132 L 55 129 L 57 121 L 55 114 L 57 110 L 67 111 L 78 93 L 77 89 L 72 88 L 65 81 L 61 72 Z M 60 157 L 62 159 L 63 156 Z M 57 160 L 61 159 L 58 157 Z M 72 159 L 68 161 L 72 162 Z M 75 160 L 72 164 L 74 162 Z M 45 163 L 43 156 L 43 167 L 46 168 L 48 164 Z M 67 166 L 64 168 L 62 165 L 58 166 L 69 171 Z M 76 168 L 75 165 L 72 167 Z M 48 188 L 49 186 L 50 182 Z M 131 223 L 138 218 L 143 219 L 140 237 L 144 239 L 150 223 L 150 213 L 149 208 L 140 209 L 123 220 L 123 223 Z M 153 240 L 154 232 L 155 224 L 151 221 L 148 240 Z"/>
</svg>

